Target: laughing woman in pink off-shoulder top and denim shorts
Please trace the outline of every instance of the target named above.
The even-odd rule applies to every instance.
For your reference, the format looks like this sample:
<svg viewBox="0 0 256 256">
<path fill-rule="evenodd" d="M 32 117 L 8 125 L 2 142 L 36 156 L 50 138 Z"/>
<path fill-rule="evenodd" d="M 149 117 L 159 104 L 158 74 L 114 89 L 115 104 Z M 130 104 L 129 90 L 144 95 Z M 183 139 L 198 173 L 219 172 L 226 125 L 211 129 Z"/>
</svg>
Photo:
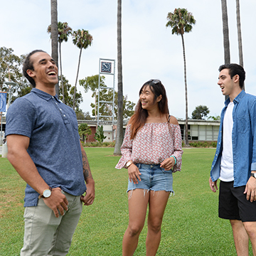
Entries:
<svg viewBox="0 0 256 256">
<path fill-rule="evenodd" d="M 146 255 L 156 255 L 161 222 L 173 191 L 175 171 L 181 171 L 181 129 L 169 115 L 166 90 L 160 80 L 149 80 L 139 90 L 139 102 L 129 120 L 116 168 L 128 169 L 129 225 L 122 255 L 133 255 L 149 205 Z"/>
</svg>

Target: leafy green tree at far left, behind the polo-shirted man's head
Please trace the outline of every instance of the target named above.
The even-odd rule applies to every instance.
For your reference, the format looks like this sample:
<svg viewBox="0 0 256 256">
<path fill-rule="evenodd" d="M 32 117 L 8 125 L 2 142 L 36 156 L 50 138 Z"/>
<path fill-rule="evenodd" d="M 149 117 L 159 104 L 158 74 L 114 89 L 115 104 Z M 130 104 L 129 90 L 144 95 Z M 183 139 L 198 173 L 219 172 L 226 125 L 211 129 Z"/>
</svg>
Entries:
<svg viewBox="0 0 256 256">
<path fill-rule="evenodd" d="M 4 82 L 16 82 L 16 86 L 11 86 L 11 102 L 16 97 L 21 97 L 31 91 L 31 86 L 26 78 L 23 77 L 21 71 L 25 58 L 25 55 L 21 55 L 21 57 L 15 55 L 12 48 L 0 48 L 0 90 L 9 90 L 9 87 Z"/>
</svg>

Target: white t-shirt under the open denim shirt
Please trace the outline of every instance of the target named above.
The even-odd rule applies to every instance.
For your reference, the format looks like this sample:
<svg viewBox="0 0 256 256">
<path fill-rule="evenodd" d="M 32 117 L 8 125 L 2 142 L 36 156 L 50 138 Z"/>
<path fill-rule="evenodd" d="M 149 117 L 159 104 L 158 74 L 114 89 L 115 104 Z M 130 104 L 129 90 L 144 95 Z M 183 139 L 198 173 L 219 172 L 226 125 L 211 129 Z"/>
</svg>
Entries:
<svg viewBox="0 0 256 256">
<path fill-rule="evenodd" d="M 233 166 L 233 146 L 232 146 L 232 129 L 233 129 L 233 107 L 234 102 L 228 104 L 223 119 L 223 151 L 220 161 L 220 181 L 234 180 Z"/>
</svg>

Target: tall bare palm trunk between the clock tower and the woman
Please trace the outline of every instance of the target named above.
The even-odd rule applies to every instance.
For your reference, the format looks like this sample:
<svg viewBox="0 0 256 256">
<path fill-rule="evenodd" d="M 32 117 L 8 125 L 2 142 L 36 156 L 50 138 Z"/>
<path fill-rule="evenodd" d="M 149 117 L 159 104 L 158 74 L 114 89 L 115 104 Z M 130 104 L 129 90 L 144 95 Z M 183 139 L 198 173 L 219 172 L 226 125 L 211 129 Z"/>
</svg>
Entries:
<svg viewBox="0 0 256 256">
<path fill-rule="evenodd" d="M 121 154 L 123 140 L 123 90 L 122 90 L 122 0 L 117 1 L 117 137 L 114 154 Z"/>
</svg>

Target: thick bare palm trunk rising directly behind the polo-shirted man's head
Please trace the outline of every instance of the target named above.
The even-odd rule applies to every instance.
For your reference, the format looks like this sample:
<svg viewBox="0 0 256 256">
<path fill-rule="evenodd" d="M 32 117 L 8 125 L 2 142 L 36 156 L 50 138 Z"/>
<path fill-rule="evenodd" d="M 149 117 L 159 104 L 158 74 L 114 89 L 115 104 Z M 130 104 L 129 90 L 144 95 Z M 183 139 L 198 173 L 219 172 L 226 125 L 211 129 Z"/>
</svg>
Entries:
<svg viewBox="0 0 256 256">
<path fill-rule="evenodd" d="M 57 0 L 50 0 L 51 46 L 52 58 L 58 66 L 58 11 Z M 56 95 L 59 96 L 58 83 L 55 85 Z"/>
</svg>

